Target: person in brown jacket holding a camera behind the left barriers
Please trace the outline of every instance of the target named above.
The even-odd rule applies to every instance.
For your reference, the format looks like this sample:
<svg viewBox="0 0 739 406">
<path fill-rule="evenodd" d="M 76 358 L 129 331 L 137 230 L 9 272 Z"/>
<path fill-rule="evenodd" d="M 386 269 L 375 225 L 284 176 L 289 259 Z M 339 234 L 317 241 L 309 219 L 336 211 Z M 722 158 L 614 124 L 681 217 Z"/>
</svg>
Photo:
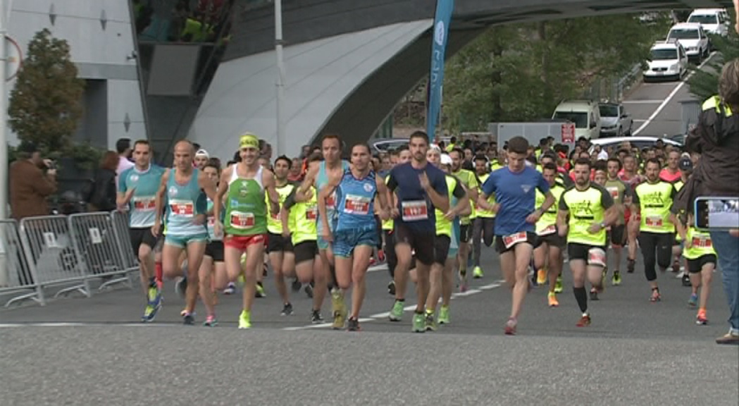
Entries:
<svg viewBox="0 0 739 406">
<path fill-rule="evenodd" d="M 46 216 L 49 214 L 46 199 L 56 192 L 54 163 L 41 159 L 41 152 L 33 143 L 21 143 L 18 151 L 25 158 L 10 165 L 10 211 L 13 218 Z M 46 174 L 42 168 L 47 169 Z"/>
</svg>

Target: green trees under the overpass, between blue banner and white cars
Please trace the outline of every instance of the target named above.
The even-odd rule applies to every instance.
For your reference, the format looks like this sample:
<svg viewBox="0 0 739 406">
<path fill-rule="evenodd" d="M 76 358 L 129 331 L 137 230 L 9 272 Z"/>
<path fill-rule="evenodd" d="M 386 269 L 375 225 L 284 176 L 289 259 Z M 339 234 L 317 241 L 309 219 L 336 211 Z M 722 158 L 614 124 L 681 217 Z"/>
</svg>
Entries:
<svg viewBox="0 0 739 406">
<path fill-rule="evenodd" d="M 667 15 L 571 18 L 491 27 L 446 64 L 443 126 L 478 131 L 488 122 L 551 117 L 602 78 L 646 60 L 670 27 Z"/>
</svg>

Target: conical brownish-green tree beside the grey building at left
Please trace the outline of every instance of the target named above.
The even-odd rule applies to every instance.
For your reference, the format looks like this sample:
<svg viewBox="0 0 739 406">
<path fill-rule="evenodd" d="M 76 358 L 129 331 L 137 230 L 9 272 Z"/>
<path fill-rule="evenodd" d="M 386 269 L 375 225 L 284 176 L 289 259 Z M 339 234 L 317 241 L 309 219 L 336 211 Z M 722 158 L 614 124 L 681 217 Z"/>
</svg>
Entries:
<svg viewBox="0 0 739 406">
<path fill-rule="evenodd" d="M 10 128 L 21 141 L 44 152 L 62 152 L 82 117 L 84 81 L 69 55 L 69 44 L 47 29 L 33 36 L 10 92 Z"/>
</svg>

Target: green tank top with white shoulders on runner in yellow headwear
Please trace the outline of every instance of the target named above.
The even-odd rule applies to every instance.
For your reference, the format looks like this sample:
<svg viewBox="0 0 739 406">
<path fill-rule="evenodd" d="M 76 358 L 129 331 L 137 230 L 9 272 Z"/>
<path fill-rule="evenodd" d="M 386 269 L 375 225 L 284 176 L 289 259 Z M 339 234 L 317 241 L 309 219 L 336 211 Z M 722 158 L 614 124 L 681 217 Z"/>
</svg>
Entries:
<svg viewBox="0 0 739 406">
<path fill-rule="evenodd" d="M 233 166 L 225 197 L 225 234 L 267 234 L 267 200 L 262 185 L 262 167 L 253 178 L 239 177 L 238 164 Z"/>
</svg>

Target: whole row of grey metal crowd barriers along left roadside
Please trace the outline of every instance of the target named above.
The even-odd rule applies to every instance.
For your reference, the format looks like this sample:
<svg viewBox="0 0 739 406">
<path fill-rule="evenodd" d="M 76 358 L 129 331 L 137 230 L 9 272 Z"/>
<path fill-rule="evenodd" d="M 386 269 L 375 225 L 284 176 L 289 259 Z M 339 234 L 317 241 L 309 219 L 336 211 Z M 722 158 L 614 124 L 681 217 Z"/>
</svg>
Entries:
<svg viewBox="0 0 739 406">
<path fill-rule="evenodd" d="M 5 307 L 21 300 L 46 304 L 71 292 L 92 296 L 98 290 L 123 284 L 132 288 L 137 271 L 128 231 L 128 215 L 96 212 L 70 216 L 28 217 L 0 221 L 0 297 Z"/>
</svg>

